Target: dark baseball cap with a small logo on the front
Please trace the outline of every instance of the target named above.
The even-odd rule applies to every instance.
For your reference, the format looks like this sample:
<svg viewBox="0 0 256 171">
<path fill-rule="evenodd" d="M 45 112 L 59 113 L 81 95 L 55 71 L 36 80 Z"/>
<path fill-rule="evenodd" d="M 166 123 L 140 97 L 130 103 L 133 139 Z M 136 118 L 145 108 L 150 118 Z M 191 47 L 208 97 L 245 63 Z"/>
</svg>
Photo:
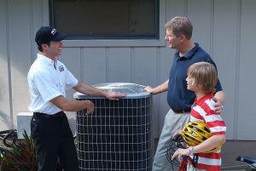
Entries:
<svg viewBox="0 0 256 171">
<path fill-rule="evenodd" d="M 50 41 L 61 41 L 67 37 L 67 34 L 57 31 L 54 27 L 51 26 L 42 26 L 35 37 L 35 42 L 38 45 L 43 43 L 49 43 Z"/>
</svg>

